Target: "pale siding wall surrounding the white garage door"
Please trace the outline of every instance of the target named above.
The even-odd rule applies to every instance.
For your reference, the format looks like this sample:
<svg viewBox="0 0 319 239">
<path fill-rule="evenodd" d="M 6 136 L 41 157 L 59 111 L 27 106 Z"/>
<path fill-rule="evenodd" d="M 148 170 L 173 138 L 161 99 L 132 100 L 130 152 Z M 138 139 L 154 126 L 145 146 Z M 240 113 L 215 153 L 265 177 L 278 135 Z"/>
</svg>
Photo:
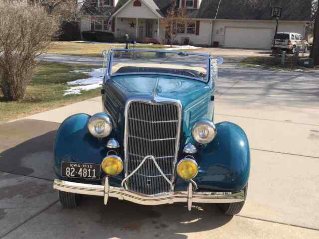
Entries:
<svg viewBox="0 0 319 239">
<path fill-rule="evenodd" d="M 305 33 L 305 23 L 304 22 L 295 22 L 295 21 L 279 21 L 278 31 L 291 31 L 297 32 L 304 35 Z M 269 31 L 271 29 L 271 36 L 273 37 L 276 30 L 276 21 L 241 21 L 241 20 L 216 20 L 213 23 L 213 32 L 212 32 L 212 43 L 213 41 L 218 41 L 220 46 L 225 46 L 225 28 L 227 27 L 242 27 L 242 28 L 259 28 L 265 29 L 264 34 L 269 38 Z M 258 34 L 260 30 L 258 30 Z M 249 38 L 248 41 L 252 43 L 256 39 Z M 248 42 L 249 43 L 249 42 Z M 238 42 L 236 47 L 247 47 L 247 42 L 241 44 Z M 271 40 L 269 43 L 271 46 Z M 251 47 L 253 48 L 253 47 Z"/>
</svg>

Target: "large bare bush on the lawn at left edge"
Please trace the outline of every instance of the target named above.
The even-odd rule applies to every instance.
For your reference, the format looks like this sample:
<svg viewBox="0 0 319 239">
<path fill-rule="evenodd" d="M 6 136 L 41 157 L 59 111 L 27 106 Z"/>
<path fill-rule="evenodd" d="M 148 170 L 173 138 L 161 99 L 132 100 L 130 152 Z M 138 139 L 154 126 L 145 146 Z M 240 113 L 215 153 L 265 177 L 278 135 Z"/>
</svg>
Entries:
<svg viewBox="0 0 319 239">
<path fill-rule="evenodd" d="M 0 92 L 21 100 L 35 71 L 35 57 L 49 46 L 59 19 L 38 4 L 0 0 Z"/>
</svg>

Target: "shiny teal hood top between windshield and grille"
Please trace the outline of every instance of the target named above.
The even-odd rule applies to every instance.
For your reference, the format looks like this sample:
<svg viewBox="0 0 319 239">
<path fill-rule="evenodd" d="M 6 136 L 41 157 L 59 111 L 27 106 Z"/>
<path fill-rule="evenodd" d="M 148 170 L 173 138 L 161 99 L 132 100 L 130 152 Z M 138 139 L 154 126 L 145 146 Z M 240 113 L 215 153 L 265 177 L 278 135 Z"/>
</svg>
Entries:
<svg viewBox="0 0 319 239">
<path fill-rule="evenodd" d="M 179 100 L 184 110 L 212 93 L 204 82 L 169 76 L 117 76 L 111 82 L 124 98 L 157 95 Z"/>
</svg>

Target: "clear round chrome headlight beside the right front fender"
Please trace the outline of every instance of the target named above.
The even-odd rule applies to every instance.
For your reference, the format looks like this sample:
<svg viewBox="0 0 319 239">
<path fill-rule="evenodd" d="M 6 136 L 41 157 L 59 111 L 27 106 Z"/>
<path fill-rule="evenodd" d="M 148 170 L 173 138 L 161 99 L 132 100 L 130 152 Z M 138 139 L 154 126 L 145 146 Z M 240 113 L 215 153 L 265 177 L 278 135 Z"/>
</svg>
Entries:
<svg viewBox="0 0 319 239">
<path fill-rule="evenodd" d="M 210 120 L 199 120 L 194 124 L 191 134 L 198 143 L 210 143 L 217 134 L 216 126 Z"/>
</svg>

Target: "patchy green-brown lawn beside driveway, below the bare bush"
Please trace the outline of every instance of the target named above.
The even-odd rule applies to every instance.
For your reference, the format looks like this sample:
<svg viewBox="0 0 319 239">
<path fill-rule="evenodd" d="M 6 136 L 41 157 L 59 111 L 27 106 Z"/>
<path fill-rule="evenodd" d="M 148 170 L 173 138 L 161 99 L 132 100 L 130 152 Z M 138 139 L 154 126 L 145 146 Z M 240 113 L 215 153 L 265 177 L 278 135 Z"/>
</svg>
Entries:
<svg viewBox="0 0 319 239">
<path fill-rule="evenodd" d="M 100 89 L 83 91 L 81 95 L 63 96 L 64 90 L 69 88 L 66 82 L 88 78 L 86 74 L 70 71 L 92 68 L 96 67 L 42 62 L 38 66 L 32 82 L 28 85 L 23 100 L 5 102 L 0 94 L 0 122 L 22 118 L 99 96 Z"/>
</svg>

